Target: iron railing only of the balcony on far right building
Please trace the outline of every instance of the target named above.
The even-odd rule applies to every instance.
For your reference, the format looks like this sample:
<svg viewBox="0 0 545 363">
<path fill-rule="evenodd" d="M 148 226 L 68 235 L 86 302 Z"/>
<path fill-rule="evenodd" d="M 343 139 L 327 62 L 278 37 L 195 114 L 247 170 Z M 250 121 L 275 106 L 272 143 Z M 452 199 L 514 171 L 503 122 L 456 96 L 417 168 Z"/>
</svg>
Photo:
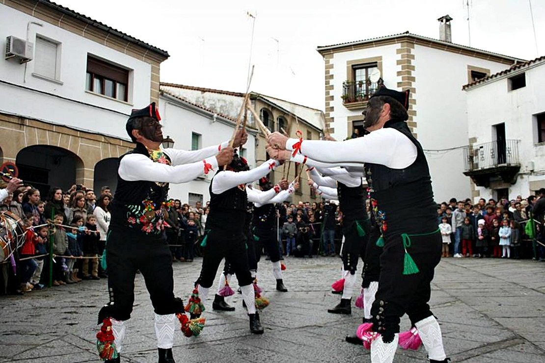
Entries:
<svg viewBox="0 0 545 363">
<path fill-rule="evenodd" d="M 520 166 L 518 143 L 519 140 L 490 141 L 465 147 L 463 149 L 465 171 Z"/>
</svg>

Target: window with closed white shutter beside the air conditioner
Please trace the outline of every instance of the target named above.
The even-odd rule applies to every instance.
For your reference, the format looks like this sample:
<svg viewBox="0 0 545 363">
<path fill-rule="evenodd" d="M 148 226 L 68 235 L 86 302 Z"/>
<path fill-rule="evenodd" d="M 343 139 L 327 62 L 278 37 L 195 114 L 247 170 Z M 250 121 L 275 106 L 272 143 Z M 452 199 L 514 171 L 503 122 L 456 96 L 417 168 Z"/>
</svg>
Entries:
<svg viewBox="0 0 545 363">
<path fill-rule="evenodd" d="M 34 75 L 60 80 L 60 43 L 36 36 Z"/>
</svg>

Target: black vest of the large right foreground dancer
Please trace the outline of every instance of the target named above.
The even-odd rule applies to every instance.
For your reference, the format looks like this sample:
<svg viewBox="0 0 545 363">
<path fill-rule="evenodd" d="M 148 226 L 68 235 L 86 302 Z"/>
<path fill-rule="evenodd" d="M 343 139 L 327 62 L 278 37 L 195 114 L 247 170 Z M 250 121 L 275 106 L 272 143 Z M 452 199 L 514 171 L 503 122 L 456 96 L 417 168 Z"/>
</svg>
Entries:
<svg viewBox="0 0 545 363">
<path fill-rule="evenodd" d="M 437 230 L 437 205 L 433 201 L 432 181 L 422 146 L 404 121 L 390 120 L 384 127 L 403 133 L 417 149 L 416 160 L 404 169 L 365 164 L 367 183 L 372 189 L 371 198 L 378 202 L 378 210 L 386 216 L 384 234 Z"/>
</svg>

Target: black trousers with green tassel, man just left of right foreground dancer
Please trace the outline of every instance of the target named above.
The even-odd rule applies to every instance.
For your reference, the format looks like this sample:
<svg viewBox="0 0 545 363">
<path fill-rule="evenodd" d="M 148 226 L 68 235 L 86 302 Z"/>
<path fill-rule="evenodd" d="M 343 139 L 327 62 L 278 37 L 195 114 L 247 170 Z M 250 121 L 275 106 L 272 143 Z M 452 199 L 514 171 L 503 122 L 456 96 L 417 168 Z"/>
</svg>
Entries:
<svg viewBox="0 0 545 363">
<path fill-rule="evenodd" d="M 358 225 L 364 230 L 364 236 L 358 233 Z M 344 235 L 344 245 L 342 247 L 342 262 L 345 271 L 350 271 L 350 274 L 355 274 L 358 268 L 358 260 L 362 254 L 365 255 L 365 248 L 369 240 L 369 231 L 371 223 L 369 219 L 352 221 L 346 224 L 343 223 L 342 233 Z M 362 257 L 362 260 L 365 256 Z M 365 261 L 365 260 L 364 260 Z"/>
</svg>

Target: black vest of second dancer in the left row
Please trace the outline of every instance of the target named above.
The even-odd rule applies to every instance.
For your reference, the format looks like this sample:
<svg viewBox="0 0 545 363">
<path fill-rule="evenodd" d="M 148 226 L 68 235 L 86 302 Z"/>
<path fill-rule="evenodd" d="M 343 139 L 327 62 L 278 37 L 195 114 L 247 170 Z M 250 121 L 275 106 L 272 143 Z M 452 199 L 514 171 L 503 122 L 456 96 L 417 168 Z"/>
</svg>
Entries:
<svg viewBox="0 0 545 363">
<path fill-rule="evenodd" d="M 221 173 L 222 170 L 217 173 Z M 216 175 L 217 175 L 216 173 Z M 212 179 L 214 182 L 214 179 Z M 210 183 L 210 204 L 206 222 L 207 230 L 222 230 L 229 233 L 243 233 L 246 223 L 248 195 L 244 185 L 226 190 L 220 194 L 212 192 Z"/>
</svg>

